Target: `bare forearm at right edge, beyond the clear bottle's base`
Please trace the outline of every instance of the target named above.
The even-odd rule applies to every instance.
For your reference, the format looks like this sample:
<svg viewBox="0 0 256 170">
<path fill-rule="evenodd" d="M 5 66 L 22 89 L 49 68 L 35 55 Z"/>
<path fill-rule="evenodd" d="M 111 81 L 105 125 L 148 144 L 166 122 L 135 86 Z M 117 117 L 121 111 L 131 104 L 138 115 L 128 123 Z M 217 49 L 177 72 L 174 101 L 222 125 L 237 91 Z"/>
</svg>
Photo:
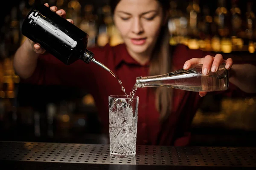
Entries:
<svg viewBox="0 0 256 170">
<path fill-rule="evenodd" d="M 256 92 L 256 66 L 252 64 L 234 64 L 230 70 L 230 83 L 247 93 Z"/>
</svg>

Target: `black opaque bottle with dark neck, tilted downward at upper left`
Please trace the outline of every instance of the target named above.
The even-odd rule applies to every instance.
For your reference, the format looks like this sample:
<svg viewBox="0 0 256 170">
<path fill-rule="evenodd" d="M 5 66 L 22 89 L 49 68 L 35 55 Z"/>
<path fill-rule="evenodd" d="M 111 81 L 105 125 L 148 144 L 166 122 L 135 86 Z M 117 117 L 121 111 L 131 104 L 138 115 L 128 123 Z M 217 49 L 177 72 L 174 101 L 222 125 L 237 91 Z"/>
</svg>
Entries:
<svg viewBox="0 0 256 170">
<path fill-rule="evenodd" d="M 88 34 L 43 4 L 29 12 L 21 32 L 67 65 L 78 59 L 93 60 L 93 52 L 87 49 Z"/>
</svg>

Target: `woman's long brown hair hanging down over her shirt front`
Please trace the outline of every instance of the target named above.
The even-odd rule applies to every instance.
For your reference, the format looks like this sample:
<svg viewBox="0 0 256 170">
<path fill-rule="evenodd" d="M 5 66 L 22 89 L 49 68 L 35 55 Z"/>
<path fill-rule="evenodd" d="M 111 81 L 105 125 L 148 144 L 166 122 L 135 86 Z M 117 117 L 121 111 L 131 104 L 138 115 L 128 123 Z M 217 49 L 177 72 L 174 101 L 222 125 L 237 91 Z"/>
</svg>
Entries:
<svg viewBox="0 0 256 170">
<path fill-rule="evenodd" d="M 169 16 L 169 0 L 157 0 L 162 6 L 164 16 Z M 120 0 L 110 0 L 110 6 L 112 13 L 114 12 L 117 4 Z M 168 18 L 167 18 L 168 19 Z M 151 62 L 149 67 L 149 75 L 161 75 L 171 72 L 171 52 L 169 46 L 169 30 L 168 22 L 162 26 L 160 30 L 160 35 L 157 39 L 156 46 L 154 47 Z M 156 87 L 155 92 L 155 104 L 157 110 L 160 112 L 159 120 L 160 122 L 165 121 L 172 109 L 172 88 L 166 87 Z"/>
</svg>

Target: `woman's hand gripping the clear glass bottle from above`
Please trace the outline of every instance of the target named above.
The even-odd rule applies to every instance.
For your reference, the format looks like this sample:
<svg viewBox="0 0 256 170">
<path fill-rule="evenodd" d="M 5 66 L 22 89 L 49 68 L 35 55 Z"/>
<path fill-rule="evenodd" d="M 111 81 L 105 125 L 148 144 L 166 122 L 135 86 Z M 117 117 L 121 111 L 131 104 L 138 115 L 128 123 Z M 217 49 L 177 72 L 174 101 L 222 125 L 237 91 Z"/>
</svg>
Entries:
<svg viewBox="0 0 256 170">
<path fill-rule="evenodd" d="M 223 59 L 221 54 L 216 54 L 215 57 L 207 55 L 204 58 L 192 58 L 184 63 L 183 69 L 190 69 L 194 65 L 203 64 L 202 73 L 208 75 L 209 71 L 216 72 L 221 63 L 226 63 L 226 69 L 231 69 L 233 65 L 232 58 Z M 207 92 L 199 92 L 201 97 L 205 96 Z"/>
</svg>

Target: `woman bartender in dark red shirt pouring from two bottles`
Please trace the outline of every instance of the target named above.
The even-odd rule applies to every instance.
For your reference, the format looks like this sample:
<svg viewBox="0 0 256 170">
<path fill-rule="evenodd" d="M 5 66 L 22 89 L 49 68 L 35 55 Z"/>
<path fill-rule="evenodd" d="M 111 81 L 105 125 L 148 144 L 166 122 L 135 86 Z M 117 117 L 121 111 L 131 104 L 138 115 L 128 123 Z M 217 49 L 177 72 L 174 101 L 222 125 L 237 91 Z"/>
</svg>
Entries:
<svg viewBox="0 0 256 170">
<path fill-rule="evenodd" d="M 49 7 L 48 4 L 45 4 Z M 164 74 L 176 69 L 189 69 L 203 64 L 203 74 L 215 72 L 222 62 L 231 69 L 230 88 L 223 95 L 256 92 L 256 67 L 233 65 L 222 55 L 191 50 L 184 45 L 169 46 L 167 29 L 168 0 L 112 0 L 114 23 L 124 44 L 90 49 L 96 60 L 110 68 L 126 90 L 132 89 L 136 77 Z M 64 10 L 50 9 L 62 17 Z M 73 23 L 73 20 L 69 20 Z M 113 76 L 93 63 L 82 61 L 66 66 L 45 54 L 40 44 L 26 40 L 17 50 L 14 68 L 24 83 L 61 84 L 86 88 L 96 102 L 102 131 L 108 133 L 108 96 L 123 94 Z M 249 81 L 252 81 L 249 83 Z M 206 92 L 200 92 L 201 96 Z M 190 125 L 201 101 L 196 92 L 171 88 L 137 89 L 140 97 L 137 144 L 185 146 L 190 140 Z"/>
</svg>

